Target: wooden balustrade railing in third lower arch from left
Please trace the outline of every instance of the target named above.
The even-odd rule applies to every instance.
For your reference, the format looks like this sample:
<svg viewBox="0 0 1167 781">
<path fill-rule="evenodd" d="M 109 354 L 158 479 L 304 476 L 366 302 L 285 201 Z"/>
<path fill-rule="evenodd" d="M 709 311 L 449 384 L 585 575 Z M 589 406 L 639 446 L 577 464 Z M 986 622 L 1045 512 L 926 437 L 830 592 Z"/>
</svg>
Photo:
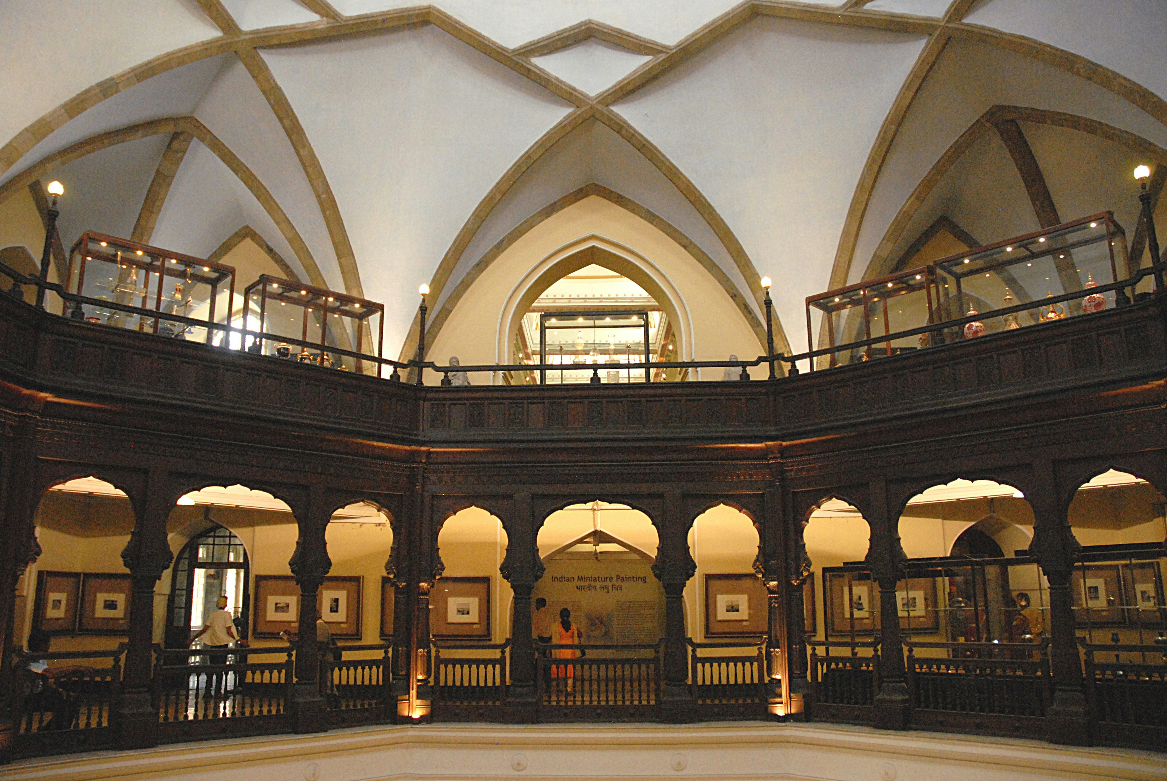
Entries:
<svg viewBox="0 0 1167 781">
<path fill-rule="evenodd" d="M 320 694 L 334 720 L 370 720 L 378 717 L 373 711 L 390 718 L 397 712 L 392 649 L 389 643 L 321 647 Z"/>
</svg>

